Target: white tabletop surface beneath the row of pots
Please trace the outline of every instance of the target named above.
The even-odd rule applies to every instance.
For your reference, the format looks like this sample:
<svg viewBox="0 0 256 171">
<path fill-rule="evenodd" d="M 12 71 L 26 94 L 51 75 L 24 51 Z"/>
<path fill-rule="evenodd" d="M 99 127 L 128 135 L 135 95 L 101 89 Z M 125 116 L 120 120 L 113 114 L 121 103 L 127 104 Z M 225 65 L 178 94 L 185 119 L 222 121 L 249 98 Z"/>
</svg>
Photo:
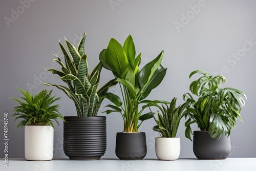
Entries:
<svg viewBox="0 0 256 171">
<path fill-rule="evenodd" d="M 197 171 L 255 171 L 256 158 L 227 158 L 225 160 L 198 160 L 196 158 L 178 159 L 176 161 L 160 161 L 158 159 L 119 160 L 105 159 L 91 161 L 75 161 L 69 159 L 53 159 L 51 161 L 26 161 L 25 159 L 8 159 L 8 167 L 2 159 L 0 170 L 44 171 L 44 170 L 197 170 Z"/>
</svg>

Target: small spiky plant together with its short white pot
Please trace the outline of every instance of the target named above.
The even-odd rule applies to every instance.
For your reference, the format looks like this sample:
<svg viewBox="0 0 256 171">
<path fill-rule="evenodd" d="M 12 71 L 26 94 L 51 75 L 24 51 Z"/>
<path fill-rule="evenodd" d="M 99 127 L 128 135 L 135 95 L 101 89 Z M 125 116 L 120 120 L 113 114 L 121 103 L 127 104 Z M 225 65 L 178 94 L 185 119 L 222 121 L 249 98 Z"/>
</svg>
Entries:
<svg viewBox="0 0 256 171">
<path fill-rule="evenodd" d="M 156 155 L 159 160 L 177 160 L 180 156 L 180 137 L 176 137 L 176 134 L 183 111 L 188 103 L 186 102 L 176 108 L 176 101 L 177 98 L 174 97 L 169 106 L 168 104 L 160 106 L 154 102 L 149 105 L 156 106 L 161 112 L 157 111 L 157 119 L 151 111 L 157 123 L 153 130 L 161 135 L 161 137 L 156 137 L 155 141 Z"/>
</svg>

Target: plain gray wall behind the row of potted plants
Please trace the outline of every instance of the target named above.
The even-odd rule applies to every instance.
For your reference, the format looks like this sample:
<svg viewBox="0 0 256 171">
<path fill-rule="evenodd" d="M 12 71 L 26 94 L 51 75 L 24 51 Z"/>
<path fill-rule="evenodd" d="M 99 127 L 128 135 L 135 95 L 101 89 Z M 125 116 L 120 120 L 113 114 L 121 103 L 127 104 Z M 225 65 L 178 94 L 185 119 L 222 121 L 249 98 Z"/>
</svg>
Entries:
<svg viewBox="0 0 256 171">
<path fill-rule="evenodd" d="M 248 101 L 241 112 L 243 123 L 238 122 L 231 133 L 230 157 L 256 157 L 256 115 L 253 110 L 256 96 L 255 7 L 255 1 L 238 0 L 1 1 L 0 134 L 4 132 L 4 113 L 11 115 L 17 105 L 9 98 L 20 96 L 16 87 L 33 94 L 42 89 L 54 89 L 53 94 L 62 97 L 59 100 L 62 106 L 60 112 L 64 116 L 76 115 L 73 101 L 64 93 L 38 83 L 57 81 L 58 77 L 45 72 L 44 68 L 56 68 L 51 61 L 54 59 L 52 54 L 60 54 L 59 39 L 63 42 L 66 36 L 77 45 L 82 31 L 86 31 L 86 51 L 92 69 L 111 37 L 122 44 L 131 34 L 137 53 L 142 52 L 142 65 L 165 51 L 162 63 L 168 68 L 167 74 L 150 99 L 171 100 L 177 97 L 178 103 L 182 103 L 182 95 L 188 92 L 191 82 L 188 75 L 197 69 L 223 74 L 227 78 L 223 87 L 243 91 Z M 101 78 L 103 84 L 113 76 L 103 70 Z M 111 92 L 120 93 L 118 88 L 113 88 Z M 104 101 L 102 106 L 108 103 Z M 104 115 L 101 113 L 103 110 L 99 115 Z M 108 148 L 104 158 L 116 158 L 115 136 L 116 132 L 122 131 L 122 118 L 118 114 L 108 115 L 107 124 Z M 23 158 L 24 129 L 16 130 L 16 125 L 17 122 L 10 117 L 8 153 L 12 158 Z M 156 158 L 154 139 L 158 134 L 152 131 L 154 125 L 154 120 L 148 120 L 140 127 L 140 131 L 147 135 L 146 158 Z M 56 126 L 54 134 L 54 158 L 67 158 L 62 151 L 62 124 Z M 182 145 L 180 157 L 195 157 L 193 143 L 184 136 L 184 120 L 181 121 L 178 136 Z M 3 157 L 4 147 L 3 143 L 0 144 L 0 156 Z"/>
</svg>

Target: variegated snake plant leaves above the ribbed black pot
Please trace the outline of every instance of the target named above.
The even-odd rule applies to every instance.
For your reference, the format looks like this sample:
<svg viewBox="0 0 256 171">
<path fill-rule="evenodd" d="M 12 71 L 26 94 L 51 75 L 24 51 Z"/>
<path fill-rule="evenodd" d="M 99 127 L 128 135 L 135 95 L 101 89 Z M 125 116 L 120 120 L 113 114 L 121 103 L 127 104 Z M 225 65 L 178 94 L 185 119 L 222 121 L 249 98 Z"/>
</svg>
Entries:
<svg viewBox="0 0 256 171">
<path fill-rule="evenodd" d="M 84 50 L 85 40 L 86 33 L 83 32 L 78 47 L 75 48 L 65 38 L 67 49 L 72 58 L 70 58 L 66 49 L 59 42 L 60 50 L 65 58 L 65 64 L 55 55 L 57 59 L 54 59 L 54 61 L 59 63 L 61 71 L 46 69 L 53 74 L 59 75 L 60 79 L 67 83 L 68 88 L 58 84 L 43 83 L 47 86 L 55 86 L 66 93 L 75 103 L 77 116 L 97 116 L 103 101 L 103 95 L 108 92 L 110 87 L 115 86 L 117 82 L 115 82 L 115 79 L 112 79 L 99 89 L 100 72 L 103 64 L 99 62 L 91 74 L 89 74 L 88 55 Z"/>
</svg>

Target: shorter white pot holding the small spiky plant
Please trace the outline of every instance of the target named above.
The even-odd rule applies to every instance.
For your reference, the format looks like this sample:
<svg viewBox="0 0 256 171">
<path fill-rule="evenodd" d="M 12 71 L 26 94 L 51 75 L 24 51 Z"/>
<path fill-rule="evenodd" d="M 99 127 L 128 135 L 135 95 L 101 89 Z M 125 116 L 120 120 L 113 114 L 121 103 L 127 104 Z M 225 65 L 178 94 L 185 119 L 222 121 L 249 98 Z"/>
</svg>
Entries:
<svg viewBox="0 0 256 171">
<path fill-rule="evenodd" d="M 156 155 L 159 160 L 177 160 L 180 156 L 180 137 L 156 137 Z"/>
</svg>

